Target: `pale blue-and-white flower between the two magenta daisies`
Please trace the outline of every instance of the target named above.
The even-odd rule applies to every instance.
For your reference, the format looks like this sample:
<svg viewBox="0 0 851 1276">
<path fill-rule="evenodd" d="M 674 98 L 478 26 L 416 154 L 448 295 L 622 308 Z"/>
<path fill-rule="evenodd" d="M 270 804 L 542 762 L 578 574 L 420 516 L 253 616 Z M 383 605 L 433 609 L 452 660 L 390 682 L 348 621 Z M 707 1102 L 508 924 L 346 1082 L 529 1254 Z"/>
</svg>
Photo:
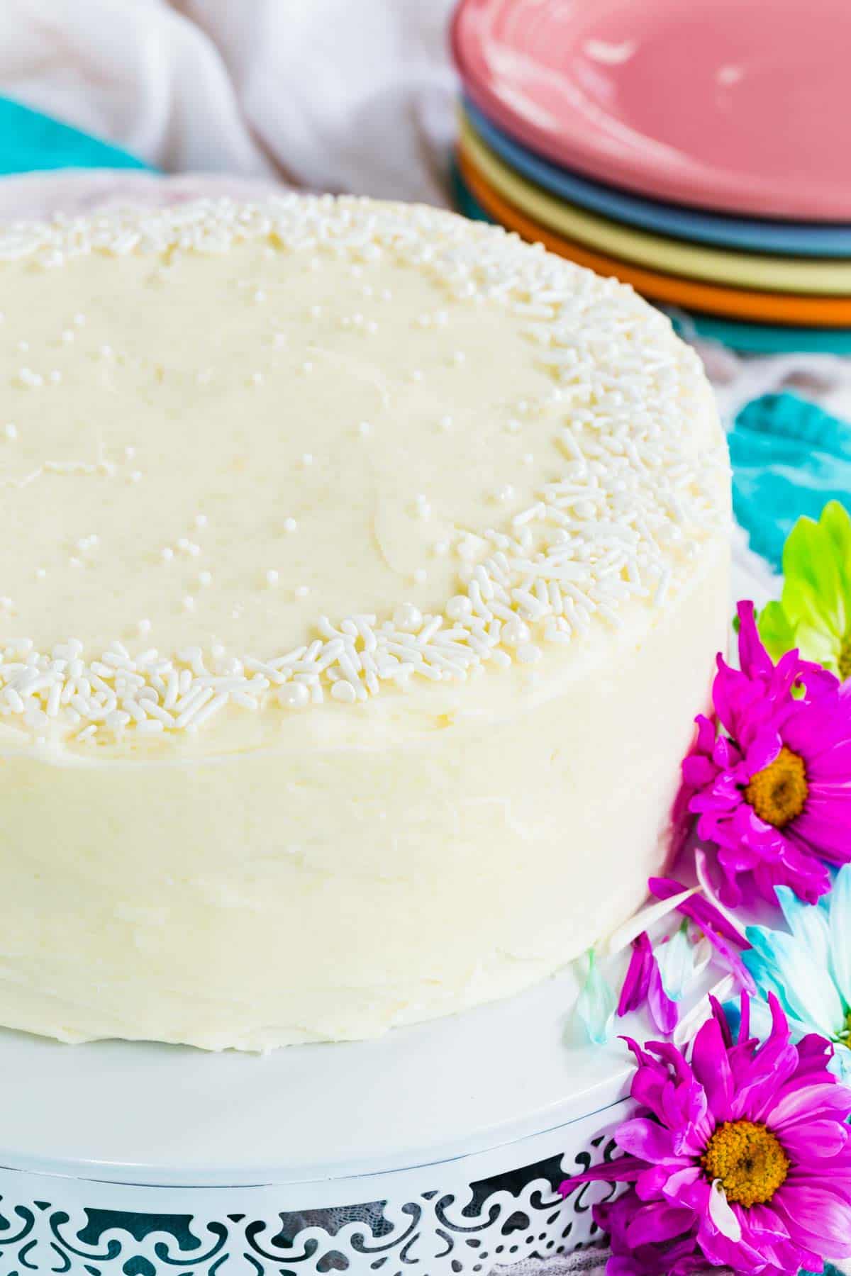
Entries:
<svg viewBox="0 0 851 1276">
<path fill-rule="evenodd" d="M 806 905 L 788 887 L 777 898 L 788 930 L 748 926 L 753 946 L 741 954 L 759 991 L 773 993 L 783 1007 L 792 1037 L 817 1032 L 833 1042 L 832 1071 L 851 1081 L 851 864 L 836 875 L 833 889 Z M 771 1027 L 764 1003 L 751 1004 L 753 1031 Z M 762 1018 L 764 1017 L 764 1023 Z"/>
</svg>

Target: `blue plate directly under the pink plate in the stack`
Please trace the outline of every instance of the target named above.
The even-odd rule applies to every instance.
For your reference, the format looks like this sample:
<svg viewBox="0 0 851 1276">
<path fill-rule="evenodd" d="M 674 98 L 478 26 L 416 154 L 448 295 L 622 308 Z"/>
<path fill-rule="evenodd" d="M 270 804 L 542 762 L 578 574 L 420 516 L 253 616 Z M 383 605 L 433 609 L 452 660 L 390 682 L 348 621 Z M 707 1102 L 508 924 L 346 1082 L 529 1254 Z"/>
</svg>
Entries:
<svg viewBox="0 0 851 1276">
<path fill-rule="evenodd" d="M 629 226 L 642 226 L 644 230 L 700 244 L 718 244 L 757 253 L 783 253 L 788 256 L 851 256 L 851 226 L 725 217 L 642 199 L 542 160 L 491 124 L 468 98 L 464 98 L 464 112 L 476 131 L 507 163 L 560 199 L 581 208 L 603 213 Z"/>
</svg>

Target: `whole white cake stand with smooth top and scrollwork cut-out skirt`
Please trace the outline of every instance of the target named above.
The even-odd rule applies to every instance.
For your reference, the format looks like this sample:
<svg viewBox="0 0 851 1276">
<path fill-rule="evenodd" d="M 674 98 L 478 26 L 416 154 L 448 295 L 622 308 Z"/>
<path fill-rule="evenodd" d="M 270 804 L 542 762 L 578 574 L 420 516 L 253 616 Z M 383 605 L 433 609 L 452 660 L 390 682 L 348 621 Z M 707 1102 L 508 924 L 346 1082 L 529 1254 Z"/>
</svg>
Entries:
<svg viewBox="0 0 851 1276">
<path fill-rule="evenodd" d="M 0 1272 L 487 1272 L 593 1239 L 620 1042 L 572 970 L 378 1041 L 263 1058 L 0 1034 Z"/>
</svg>

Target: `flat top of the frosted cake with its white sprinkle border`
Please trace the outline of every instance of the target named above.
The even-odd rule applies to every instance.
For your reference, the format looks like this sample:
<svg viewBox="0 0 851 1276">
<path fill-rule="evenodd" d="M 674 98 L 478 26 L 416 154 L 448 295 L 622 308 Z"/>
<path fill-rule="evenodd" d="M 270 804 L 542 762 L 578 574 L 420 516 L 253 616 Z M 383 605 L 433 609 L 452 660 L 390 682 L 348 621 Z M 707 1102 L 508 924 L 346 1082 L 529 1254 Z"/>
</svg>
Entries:
<svg viewBox="0 0 851 1276">
<path fill-rule="evenodd" d="M 667 319 L 494 227 L 110 212 L 6 228 L 0 278 L 0 723 L 38 739 L 532 665 L 726 514 Z"/>
</svg>

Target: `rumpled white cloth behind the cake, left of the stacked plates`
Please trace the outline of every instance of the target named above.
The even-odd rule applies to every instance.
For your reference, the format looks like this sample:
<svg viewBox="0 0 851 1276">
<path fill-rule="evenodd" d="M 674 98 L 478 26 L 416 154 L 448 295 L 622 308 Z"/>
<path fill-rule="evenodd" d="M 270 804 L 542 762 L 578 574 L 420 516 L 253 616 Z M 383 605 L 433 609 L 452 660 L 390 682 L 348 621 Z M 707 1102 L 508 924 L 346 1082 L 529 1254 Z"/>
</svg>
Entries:
<svg viewBox="0 0 851 1276">
<path fill-rule="evenodd" d="M 167 172 L 445 202 L 452 0 L 5 0 L 0 92 Z"/>
</svg>

